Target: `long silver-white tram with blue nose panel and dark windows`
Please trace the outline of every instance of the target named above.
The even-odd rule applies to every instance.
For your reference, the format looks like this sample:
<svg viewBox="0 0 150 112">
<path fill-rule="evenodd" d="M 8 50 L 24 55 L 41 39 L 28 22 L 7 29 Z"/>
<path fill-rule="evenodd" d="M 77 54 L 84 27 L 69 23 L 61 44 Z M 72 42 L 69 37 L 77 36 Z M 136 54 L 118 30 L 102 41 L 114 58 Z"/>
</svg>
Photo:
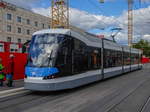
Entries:
<svg viewBox="0 0 150 112">
<path fill-rule="evenodd" d="M 25 89 L 71 89 L 142 68 L 141 51 L 70 29 L 33 34 Z"/>
</svg>

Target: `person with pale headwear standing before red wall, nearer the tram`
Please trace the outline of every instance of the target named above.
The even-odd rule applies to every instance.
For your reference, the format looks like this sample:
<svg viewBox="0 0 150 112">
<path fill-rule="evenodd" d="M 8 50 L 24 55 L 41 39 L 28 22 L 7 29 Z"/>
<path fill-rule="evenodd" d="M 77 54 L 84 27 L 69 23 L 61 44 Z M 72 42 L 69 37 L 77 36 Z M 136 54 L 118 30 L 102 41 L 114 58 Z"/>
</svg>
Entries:
<svg viewBox="0 0 150 112">
<path fill-rule="evenodd" d="M 8 87 L 12 87 L 13 75 L 14 75 L 14 55 L 11 54 L 9 56 L 8 66 L 7 66 L 7 74 L 6 74 L 7 86 Z"/>
</svg>

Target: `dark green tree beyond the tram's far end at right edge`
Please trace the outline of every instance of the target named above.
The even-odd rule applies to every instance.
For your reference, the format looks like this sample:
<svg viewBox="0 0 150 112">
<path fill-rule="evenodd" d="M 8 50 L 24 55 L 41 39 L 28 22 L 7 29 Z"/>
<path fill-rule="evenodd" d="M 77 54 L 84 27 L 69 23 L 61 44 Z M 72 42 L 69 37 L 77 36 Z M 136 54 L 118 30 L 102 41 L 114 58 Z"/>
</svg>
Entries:
<svg viewBox="0 0 150 112">
<path fill-rule="evenodd" d="M 150 57 L 150 43 L 147 40 L 140 40 L 138 43 L 133 45 L 133 48 L 143 50 L 143 55 Z"/>
</svg>

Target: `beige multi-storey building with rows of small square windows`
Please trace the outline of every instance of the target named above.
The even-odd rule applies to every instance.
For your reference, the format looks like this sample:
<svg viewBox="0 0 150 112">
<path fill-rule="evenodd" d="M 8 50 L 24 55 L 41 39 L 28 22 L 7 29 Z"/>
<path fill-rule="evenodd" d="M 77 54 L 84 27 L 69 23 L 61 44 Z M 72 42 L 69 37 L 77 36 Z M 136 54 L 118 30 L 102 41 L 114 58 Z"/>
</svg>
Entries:
<svg viewBox="0 0 150 112">
<path fill-rule="evenodd" d="M 50 28 L 50 18 L 0 0 L 0 41 L 25 43 L 33 32 Z"/>
</svg>

